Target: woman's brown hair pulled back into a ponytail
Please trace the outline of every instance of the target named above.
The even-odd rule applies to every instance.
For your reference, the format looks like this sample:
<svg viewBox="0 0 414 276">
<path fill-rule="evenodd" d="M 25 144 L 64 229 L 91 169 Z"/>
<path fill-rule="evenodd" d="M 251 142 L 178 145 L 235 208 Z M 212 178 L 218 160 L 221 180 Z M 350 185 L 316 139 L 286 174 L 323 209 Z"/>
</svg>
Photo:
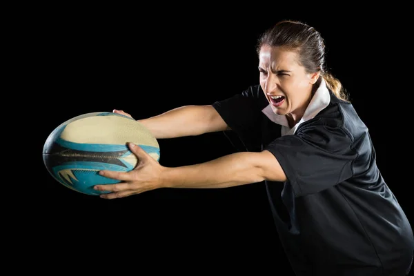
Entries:
<svg viewBox="0 0 414 276">
<path fill-rule="evenodd" d="M 257 54 L 263 45 L 294 50 L 299 55 L 299 64 L 304 66 L 306 72 L 320 71 L 321 77 L 326 81 L 326 86 L 335 96 L 349 101 L 342 83 L 326 70 L 324 39 L 315 28 L 299 21 L 279 21 L 259 38 L 256 48 Z"/>
</svg>

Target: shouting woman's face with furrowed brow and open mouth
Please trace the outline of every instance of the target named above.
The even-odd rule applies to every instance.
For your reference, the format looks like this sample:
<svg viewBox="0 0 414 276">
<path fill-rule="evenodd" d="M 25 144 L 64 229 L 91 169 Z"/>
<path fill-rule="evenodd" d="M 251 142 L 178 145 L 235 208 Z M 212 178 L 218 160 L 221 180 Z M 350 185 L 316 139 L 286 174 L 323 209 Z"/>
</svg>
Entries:
<svg viewBox="0 0 414 276">
<path fill-rule="evenodd" d="M 262 46 L 259 52 L 260 86 L 277 115 L 302 118 L 311 101 L 319 73 L 306 73 L 295 52 Z"/>
</svg>

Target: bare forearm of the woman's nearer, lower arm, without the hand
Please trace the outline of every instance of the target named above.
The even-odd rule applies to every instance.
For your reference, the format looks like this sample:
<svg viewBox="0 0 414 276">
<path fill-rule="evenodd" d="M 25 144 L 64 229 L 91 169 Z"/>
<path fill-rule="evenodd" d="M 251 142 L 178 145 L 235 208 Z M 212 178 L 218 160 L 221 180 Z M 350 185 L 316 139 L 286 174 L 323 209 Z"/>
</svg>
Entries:
<svg viewBox="0 0 414 276">
<path fill-rule="evenodd" d="M 161 175 L 168 188 L 226 188 L 264 180 L 255 152 L 237 152 L 201 164 L 166 168 Z"/>
</svg>

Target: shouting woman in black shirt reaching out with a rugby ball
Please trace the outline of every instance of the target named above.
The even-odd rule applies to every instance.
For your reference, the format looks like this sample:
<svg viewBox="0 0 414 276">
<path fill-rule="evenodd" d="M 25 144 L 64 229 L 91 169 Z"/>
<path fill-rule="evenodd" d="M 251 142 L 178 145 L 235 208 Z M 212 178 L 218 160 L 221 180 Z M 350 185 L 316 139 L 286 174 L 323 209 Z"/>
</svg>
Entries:
<svg viewBox="0 0 414 276">
<path fill-rule="evenodd" d="M 311 26 L 277 23 L 259 39 L 259 85 L 210 106 L 138 120 L 159 139 L 233 130 L 247 151 L 166 168 L 130 144 L 137 168 L 103 170 L 122 183 L 95 188 L 113 199 L 161 187 L 264 181 L 297 275 L 408 274 L 413 231 L 376 166 L 368 129 L 326 70 L 324 50 Z"/>
</svg>

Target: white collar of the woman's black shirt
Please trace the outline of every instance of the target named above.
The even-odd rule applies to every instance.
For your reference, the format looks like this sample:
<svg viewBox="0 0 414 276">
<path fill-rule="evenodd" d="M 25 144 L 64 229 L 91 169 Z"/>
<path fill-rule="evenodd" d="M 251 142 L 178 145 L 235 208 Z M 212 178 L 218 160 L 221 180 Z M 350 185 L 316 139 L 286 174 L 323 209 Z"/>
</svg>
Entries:
<svg viewBox="0 0 414 276">
<path fill-rule="evenodd" d="M 313 119 L 317 113 L 328 106 L 330 101 L 331 95 L 329 95 L 329 90 L 326 88 L 326 82 L 322 78 L 319 88 L 315 91 L 311 102 L 304 112 L 304 116 L 297 122 L 297 124 L 295 124 L 295 126 L 293 126 L 293 128 L 289 128 L 288 120 L 285 115 L 277 115 L 273 112 L 270 104 L 266 106 L 262 112 L 270 119 L 270 121 L 282 126 L 282 135 L 293 135 L 300 124 L 309 119 Z"/>
</svg>

